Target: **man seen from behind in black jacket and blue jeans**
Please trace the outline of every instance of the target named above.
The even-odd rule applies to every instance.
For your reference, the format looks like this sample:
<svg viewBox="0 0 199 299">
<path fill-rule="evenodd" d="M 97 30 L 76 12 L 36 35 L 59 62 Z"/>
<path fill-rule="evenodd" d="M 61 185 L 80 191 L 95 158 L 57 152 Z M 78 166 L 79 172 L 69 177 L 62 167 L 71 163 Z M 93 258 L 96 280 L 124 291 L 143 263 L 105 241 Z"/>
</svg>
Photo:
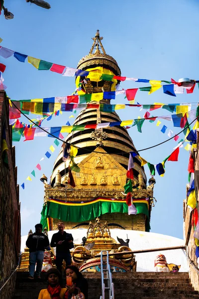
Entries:
<svg viewBox="0 0 199 299">
<path fill-rule="evenodd" d="M 42 224 L 35 225 L 35 233 L 29 235 L 26 241 L 26 246 L 29 248 L 29 279 L 34 279 L 34 269 L 36 266 L 36 278 L 40 278 L 44 251 L 49 247 L 49 240 L 46 235 L 42 233 Z"/>
</svg>

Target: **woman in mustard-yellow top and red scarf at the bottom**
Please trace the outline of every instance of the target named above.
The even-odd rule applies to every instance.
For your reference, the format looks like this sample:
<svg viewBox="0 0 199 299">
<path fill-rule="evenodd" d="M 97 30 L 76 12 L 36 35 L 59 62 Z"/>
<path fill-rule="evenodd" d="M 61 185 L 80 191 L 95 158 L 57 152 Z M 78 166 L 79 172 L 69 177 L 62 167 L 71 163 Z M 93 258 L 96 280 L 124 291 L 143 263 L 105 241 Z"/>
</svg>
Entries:
<svg viewBox="0 0 199 299">
<path fill-rule="evenodd" d="M 39 293 L 38 299 L 64 299 L 65 288 L 61 288 L 61 274 L 57 268 L 51 268 L 46 272 L 48 288 Z"/>
</svg>

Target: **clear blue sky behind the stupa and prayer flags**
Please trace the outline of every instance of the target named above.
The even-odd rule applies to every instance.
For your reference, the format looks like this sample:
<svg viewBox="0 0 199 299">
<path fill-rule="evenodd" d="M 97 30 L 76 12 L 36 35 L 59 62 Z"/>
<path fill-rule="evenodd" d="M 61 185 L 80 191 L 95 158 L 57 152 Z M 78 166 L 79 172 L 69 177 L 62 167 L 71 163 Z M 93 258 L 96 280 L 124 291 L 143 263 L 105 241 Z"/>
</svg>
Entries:
<svg viewBox="0 0 199 299">
<path fill-rule="evenodd" d="M 5 20 L 0 16 L 1 46 L 29 56 L 53 63 L 76 67 L 78 61 L 89 53 L 91 37 L 96 30 L 103 36 L 103 46 L 107 54 L 113 56 L 123 76 L 151 80 L 170 80 L 171 77 L 199 79 L 199 3 L 197 0 L 109 0 L 109 1 L 66 1 L 48 0 L 51 9 L 46 10 L 25 0 L 5 0 L 4 6 L 13 14 L 14 19 Z M 62 77 L 50 71 L 38 71 L 32 65 L 20 63 L 14 57 L 0 62 L 6 64 L 3 74 L 6 92 L 11 99 L 31 99 L 66 96 L 75 89 L 74 78 Z M 144 83 L 123 82 L 122 88 L 148 86 Z M 162 89 L 148 95 L 138 92 L 136 100 L 141 104 L 198 102 L 199 91 L 193 94 L 177 95 L 176 98 L 163 94 Z M 118 96 L 114 103 L 126 103 Z M 112 101 L 112 104 L 114 104 Z M 119 110 L 121 120 L 143 117 L 139 108 Z M 43 126 L 63 126 L 72 113 L 66 112 L 53 117 Z M 78 111 L 77 111 L 78 114 Z M 74 114 L 76 117 L 77 114 Z M 154 116 L 169 115 L 159 109 Z M 31 115 L 34 118 L 35 115 Z M 21 118 L 26 123 L 24 118 Z M 70 119 L 73 123 L 74 119 Z M 143 133 L 136 127 L 128 130 L 136 149 L 143 149 L 167 140 L 167 134 L 160 132 L 163 125 L 175 134 L 181 131 L 172 122 L 162 120 L 160 127 L 156 122 L 143 124 Z M 167 133 L 168 133 L 167 130 Z M 66 135 L 65 135 L 66 136 Z M 184 135 L 181 135 L 182 138 Z M 61 144 L 50 159 L 45 152 L 53 144 L 52 138 L 35 138 L 34 141 L 13 143 L 16 147 L 16 165 L 20 187 L 21 235 L 28 233 L 40 221 L 43 205 L 43 184 L 39 178 L 42 173 L 49 178 L 53 163 Z M 172 140 L 154 149 L 142 151 L 141 156 L 153 164 L 162 162 L 177 143 Z M 167 162 L 164 177 L 155 176 L 154 196 L 157 204 L 151 214 L 151 231 L 183 238 L 183 199 L 186 197 L 188 182 L 189 152 L 180 149 L 178 162 Z M 41 164 L 42 170 L 35 168 Z M 32 170 L 36 178 L 26 181 Z M 145 166 L 148 179 L 149 170 Z"/>
</svg>

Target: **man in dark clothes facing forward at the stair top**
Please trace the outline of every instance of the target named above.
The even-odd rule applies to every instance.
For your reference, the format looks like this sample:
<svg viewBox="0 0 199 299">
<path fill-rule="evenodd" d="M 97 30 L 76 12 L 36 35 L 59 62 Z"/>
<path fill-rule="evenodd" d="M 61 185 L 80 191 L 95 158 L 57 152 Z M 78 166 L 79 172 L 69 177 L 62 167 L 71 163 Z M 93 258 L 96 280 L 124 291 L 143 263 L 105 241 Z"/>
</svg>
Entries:
<svg viewBox="0 0 199 299">
<path fill-rule="evenodd" d="M 70 249 L 74 248 L 73 236 L 64 231 L 63 222 L 58 223 L 58 233 L 53 234 L 50 242 L 51 247 L 56 247 L 56 260 L 55 264 L 60 273 L 62 273 L 63 260 L 66 266 L 71 265 Z"/>
</svg>

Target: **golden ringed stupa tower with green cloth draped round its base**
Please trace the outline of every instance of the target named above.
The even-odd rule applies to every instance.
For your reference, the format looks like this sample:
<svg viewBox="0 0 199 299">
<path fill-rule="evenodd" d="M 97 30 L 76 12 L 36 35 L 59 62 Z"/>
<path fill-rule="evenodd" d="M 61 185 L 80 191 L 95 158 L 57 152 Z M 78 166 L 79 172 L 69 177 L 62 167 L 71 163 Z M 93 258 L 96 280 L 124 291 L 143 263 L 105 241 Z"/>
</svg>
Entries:
<svg viewBox="0 0 199 299">
<path fill-rule="evenodd" d="M 147 186 L 144 167 L 135 156 L 132 198 L 137 214 L 128 213 L 123 186 L 127 180 L 129 152 L 137 151 L 124 127 L 103 128 L 102 125 L 120 122 L 104 92 L 116 90 L 121 71 L 116 60 L 106 54 L 101 40 L 97 30 L 90 53 L 77 66 L 80 70 L 75 79 L 78 93 L 86 98 L 95 94 L 101 98 L 98 101 L 93 97 L 95 101 L 90 101 L 87 108 L 79 113 L 74 122 L 78 131 L 69 133 L 65 140 L 78 147 L 74 162 L 80 167 L 80 172 L 72 170 L 76 186 L 73 188 L 68 184 L 70 161 L 63 161 L 63 148 L 55 160 L 50 183 L 47 183 L 45 175 L 41 178 L 45 187 L 41 223 L 48 230 L 56 230 L 59 221 L 63 221 L 68 229 L 88 228 L 90 221 L 96 217 L 102 222 L 107 221 L 111 229 L 150 229 L 155 179 L 150 180 Z M 89 71 L 89 75 L 85 71 Z M 101 111 L 100 105 L 96 108 L 96 104 L 106 104 L 103 106 L 106 109 Z M 93 129 L 92 125 L 95 127 L 96 124 L 100 124 L 100 128 Z M 89 128 L 82 130 L 85 125 Z"/>
</svg>

